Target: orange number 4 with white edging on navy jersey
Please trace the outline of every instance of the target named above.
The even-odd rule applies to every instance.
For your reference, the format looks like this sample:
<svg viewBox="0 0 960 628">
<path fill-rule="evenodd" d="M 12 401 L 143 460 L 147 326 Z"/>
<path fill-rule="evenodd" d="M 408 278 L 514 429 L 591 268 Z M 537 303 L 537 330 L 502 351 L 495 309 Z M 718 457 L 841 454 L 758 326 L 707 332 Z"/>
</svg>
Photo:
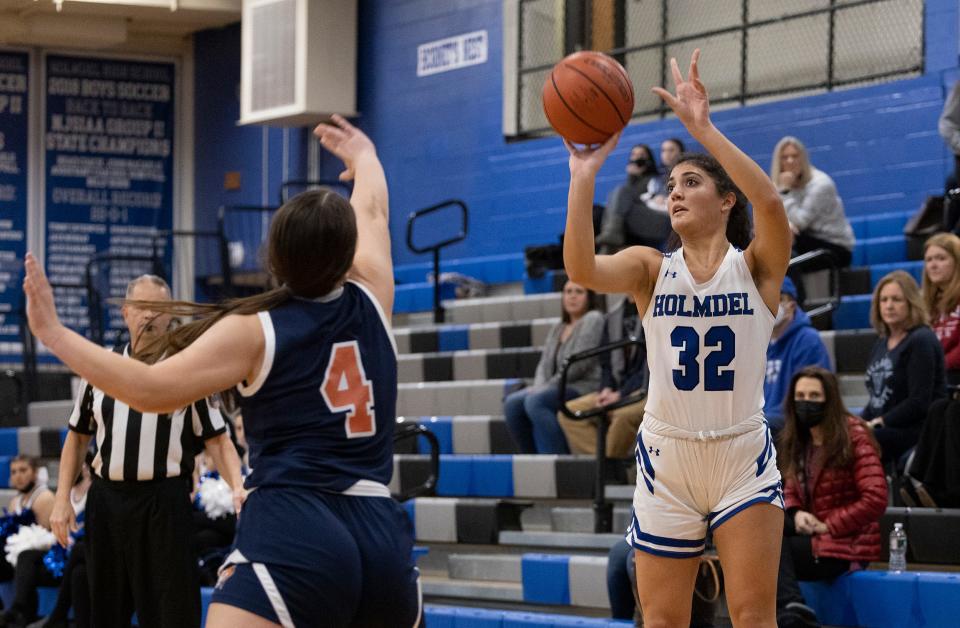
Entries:
<svg viewBox="0 0 960 628">
<path fill-rule="evenodd" d="M 377 433 L 373 412 L 373 384 L 363 370 L 360 346 L 356 340 L 333 345 L 320 393 L 331 412 L 347 413 L 347 438 L 361 438 Z"/>
</svg>

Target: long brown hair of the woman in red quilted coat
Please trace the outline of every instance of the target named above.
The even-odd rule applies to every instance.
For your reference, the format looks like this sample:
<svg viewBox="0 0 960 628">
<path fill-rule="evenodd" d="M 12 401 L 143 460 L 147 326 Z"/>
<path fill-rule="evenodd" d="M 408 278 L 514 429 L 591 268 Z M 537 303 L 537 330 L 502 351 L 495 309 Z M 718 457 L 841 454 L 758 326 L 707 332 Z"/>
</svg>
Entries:
<svg viewBox="0 0 960 628">
<path fill-rule="evenodd" d="M 823 432 L 826 466 L 845 467 L 853 462 L 853 442 L 850 439 L 850 429 L 847 426 L 848 417 L 852 415 L 840 396 L 837 376 L 825 368 L 808 366 L 797 371 L 790 380 L 790 387 L 787 389 L 787 396 L 783 404 L 784 423 L 777 439 L 777 460 L 780 465 L 780 472 L 787 479 L 797 477 L 807 449 L 812 443 L 810 430 L 797 424 L 797 402 L 793 398 L 796 394 L 797 382 L 804 377 L 816 379 L 823 386 L 825 412 L 820 429 Z M 866 427 L 866 424 L 864 424 L 864 427 Z M 873 444 L 879 450 L 875 441 Z"/>
</svg>

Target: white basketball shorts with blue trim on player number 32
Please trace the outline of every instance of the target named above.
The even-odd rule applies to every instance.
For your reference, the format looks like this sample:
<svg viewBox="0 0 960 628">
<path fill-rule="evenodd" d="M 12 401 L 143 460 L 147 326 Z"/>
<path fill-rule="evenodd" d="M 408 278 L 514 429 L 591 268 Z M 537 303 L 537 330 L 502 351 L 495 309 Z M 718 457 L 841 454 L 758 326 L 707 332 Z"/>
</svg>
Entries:
<svg viewBox="0 0 960 628">
<path fill-rule="evenodd" d="M 776 449 L 766 422 L 736 436 L 697 440 L 637 433 L 637 486 L 627 543 L 657 556 L 699 556 L 707 530 L 754 504 L 783 508 Z"/>
</svg>

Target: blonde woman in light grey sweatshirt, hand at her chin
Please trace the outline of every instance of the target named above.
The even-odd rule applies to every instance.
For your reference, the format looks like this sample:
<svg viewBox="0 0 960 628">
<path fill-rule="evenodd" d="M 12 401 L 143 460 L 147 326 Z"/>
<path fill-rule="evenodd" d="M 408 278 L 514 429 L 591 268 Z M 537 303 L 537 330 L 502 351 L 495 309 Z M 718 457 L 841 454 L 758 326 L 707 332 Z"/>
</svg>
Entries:
<svg viewBox="0 0 960 628">
<path fill-rule="evenodd" d="M 789 135 L 777 142 L 770 178 L 783 197 L 794 235 L 794 253 L 826 249 L 841 268 L 849 266 L 856 242 L 853 227 L 844 213 L 836 184 L 810 164 L 803 142 Z"/>
</svg>

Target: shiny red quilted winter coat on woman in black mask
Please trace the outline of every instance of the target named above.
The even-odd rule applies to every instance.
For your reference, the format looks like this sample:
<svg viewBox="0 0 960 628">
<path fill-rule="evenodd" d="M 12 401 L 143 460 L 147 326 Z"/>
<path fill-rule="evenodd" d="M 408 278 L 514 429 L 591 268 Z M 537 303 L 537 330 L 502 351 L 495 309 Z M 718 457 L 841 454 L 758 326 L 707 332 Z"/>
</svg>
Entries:
<svg viewBox="0 0 960 628">
<path fill-rule="evenodd" d="M 803 485 L 787 480 L 784 502 L 787 510 L 799 508 L 827 524 L 829 532 L 813 537 L 813 555 L 869 562 L 880 559 L 880 518 L 887 509 L 887 478 L 880 455 L 870 443 L 863 421 L 847 418 L 853 441 L 853 462 L 832 467 L 829 462 L 810 478 L 806 503 Z"/>
</svg>

